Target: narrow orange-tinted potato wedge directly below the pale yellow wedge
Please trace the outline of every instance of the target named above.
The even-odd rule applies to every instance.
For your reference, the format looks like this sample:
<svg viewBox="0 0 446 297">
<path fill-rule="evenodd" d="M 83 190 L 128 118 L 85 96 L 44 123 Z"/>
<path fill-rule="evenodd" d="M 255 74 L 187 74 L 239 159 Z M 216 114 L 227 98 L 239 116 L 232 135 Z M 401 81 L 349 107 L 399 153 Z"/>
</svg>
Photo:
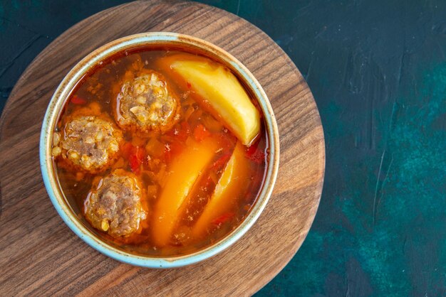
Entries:
<svg viewBox="0 0 446 297">
<path fill-rule="evenodd" d="M 211 231 L 212 222 L 215 219 L 234 209 L 239 198 L 237 193 L 242 193 L 241 189 L 247 184 L 249 173 L 247 162 L 247 158 L 244 156 L 244 147 L 237 142 L 237 146 L 235 146 L 234 152 L 219 178 L 211 199 L 207 202 L 194 227 L 192 227 L 193 237 L 204 236 L 207 231 Z"/>
</svg>

